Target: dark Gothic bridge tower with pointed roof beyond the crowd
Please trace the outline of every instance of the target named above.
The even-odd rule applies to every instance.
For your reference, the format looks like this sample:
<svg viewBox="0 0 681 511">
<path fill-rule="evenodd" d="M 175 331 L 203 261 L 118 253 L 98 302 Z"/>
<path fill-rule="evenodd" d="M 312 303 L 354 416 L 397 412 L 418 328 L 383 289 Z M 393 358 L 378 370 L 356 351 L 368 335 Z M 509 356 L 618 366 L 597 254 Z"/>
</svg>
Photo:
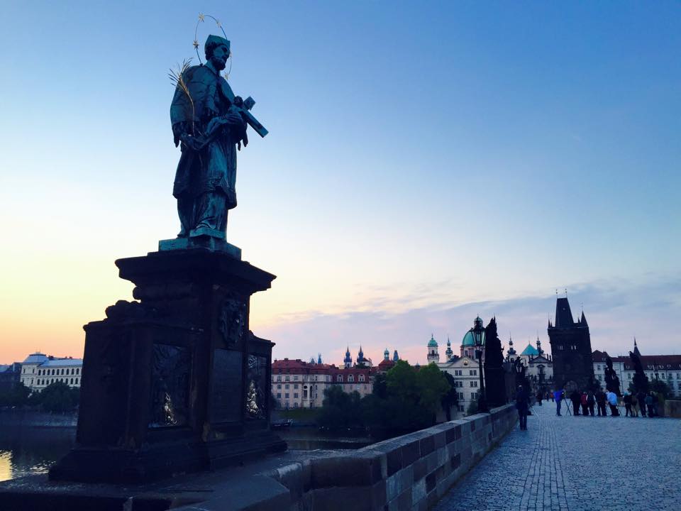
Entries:
<svg viewBox="0 0 681 511">
<path fill-rule="evenodd" d="M 572 318 L 567 297 L 555 302 L 555 324 L 548 322 L 548 340 L 553 356 L 553 381 L 555 388 L 576 385 L 577 390 L 586 390 L 594 382 L 594 363 L 591 352 L 589 324 L 582 311 L 582 317 Z"/>
</svg>

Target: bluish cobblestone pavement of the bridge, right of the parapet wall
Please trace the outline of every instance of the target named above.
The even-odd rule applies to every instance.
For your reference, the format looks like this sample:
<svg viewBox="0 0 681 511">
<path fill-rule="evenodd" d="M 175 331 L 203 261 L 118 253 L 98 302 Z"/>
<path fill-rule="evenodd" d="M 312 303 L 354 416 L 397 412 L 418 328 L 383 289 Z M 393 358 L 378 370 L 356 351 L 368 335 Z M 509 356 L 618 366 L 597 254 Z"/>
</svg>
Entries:
<svg viewBox="0 0 681 511">
<path fill-rule="evenodd" d="M 681 509 L 681 420 L 532 413 L 435 510 Z"/>
</svg>

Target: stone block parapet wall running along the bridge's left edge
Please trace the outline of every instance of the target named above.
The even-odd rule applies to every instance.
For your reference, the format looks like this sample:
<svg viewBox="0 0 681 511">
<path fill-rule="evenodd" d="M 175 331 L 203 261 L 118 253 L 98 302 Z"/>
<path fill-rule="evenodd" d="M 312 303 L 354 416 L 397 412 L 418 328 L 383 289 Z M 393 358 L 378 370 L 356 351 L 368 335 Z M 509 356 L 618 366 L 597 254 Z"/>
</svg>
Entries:
<svg viewBox="0 0 681 511">
<path fill-rule="evenodd" d="M 348 454 L 292 463 L 262 475 L 287 488 L 292 511 L 425 511 L 516 421 L 514 405 L 505 405 L 489 414 L 445 422 Z M 265 502 L 260 506 L 267 509 Z"/>
</svg>

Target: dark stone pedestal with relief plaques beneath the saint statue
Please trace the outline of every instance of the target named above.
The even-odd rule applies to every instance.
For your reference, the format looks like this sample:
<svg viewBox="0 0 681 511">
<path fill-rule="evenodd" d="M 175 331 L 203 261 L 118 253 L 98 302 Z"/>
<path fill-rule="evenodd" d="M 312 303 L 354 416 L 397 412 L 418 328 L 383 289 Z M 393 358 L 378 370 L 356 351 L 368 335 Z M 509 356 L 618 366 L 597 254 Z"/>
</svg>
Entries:
<svg viewBox="0 0 681 511">
<path fill-rule="evenodd" d="M 143 482 L 282 451 L 270 431 L 272 346 L 248 328 L 275 275 L 194 246 L 116 261 L 138 302 L 84 326 L 76 446 L 52 480 Z"/>
</svg>

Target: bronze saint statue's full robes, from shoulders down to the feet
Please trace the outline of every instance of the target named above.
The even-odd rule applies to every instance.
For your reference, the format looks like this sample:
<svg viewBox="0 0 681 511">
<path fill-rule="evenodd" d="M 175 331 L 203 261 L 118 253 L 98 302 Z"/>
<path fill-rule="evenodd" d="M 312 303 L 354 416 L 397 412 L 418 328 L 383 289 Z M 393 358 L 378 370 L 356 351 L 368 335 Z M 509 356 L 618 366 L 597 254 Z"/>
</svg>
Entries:
<svg viewBox="0 0 681 511">
<path fill-rule="evenodd" d="M 182 77 L 191 100 L 181 87 L 175 89 L 170 106 L 175 143 L 182 132 L 206 140 L 206 127 L 214 117 L 228 113 L 234 93 L 210 62 L 189 67 Z M 172 190 L 182 222 L 180 236 L 197 226 L 226 229 L 227 210 L 236 207 L 236 143 L 244 133 L 245 123 L 243 129 L 225 125 L 200 150 L 182 143 Z"/>
</svg>

